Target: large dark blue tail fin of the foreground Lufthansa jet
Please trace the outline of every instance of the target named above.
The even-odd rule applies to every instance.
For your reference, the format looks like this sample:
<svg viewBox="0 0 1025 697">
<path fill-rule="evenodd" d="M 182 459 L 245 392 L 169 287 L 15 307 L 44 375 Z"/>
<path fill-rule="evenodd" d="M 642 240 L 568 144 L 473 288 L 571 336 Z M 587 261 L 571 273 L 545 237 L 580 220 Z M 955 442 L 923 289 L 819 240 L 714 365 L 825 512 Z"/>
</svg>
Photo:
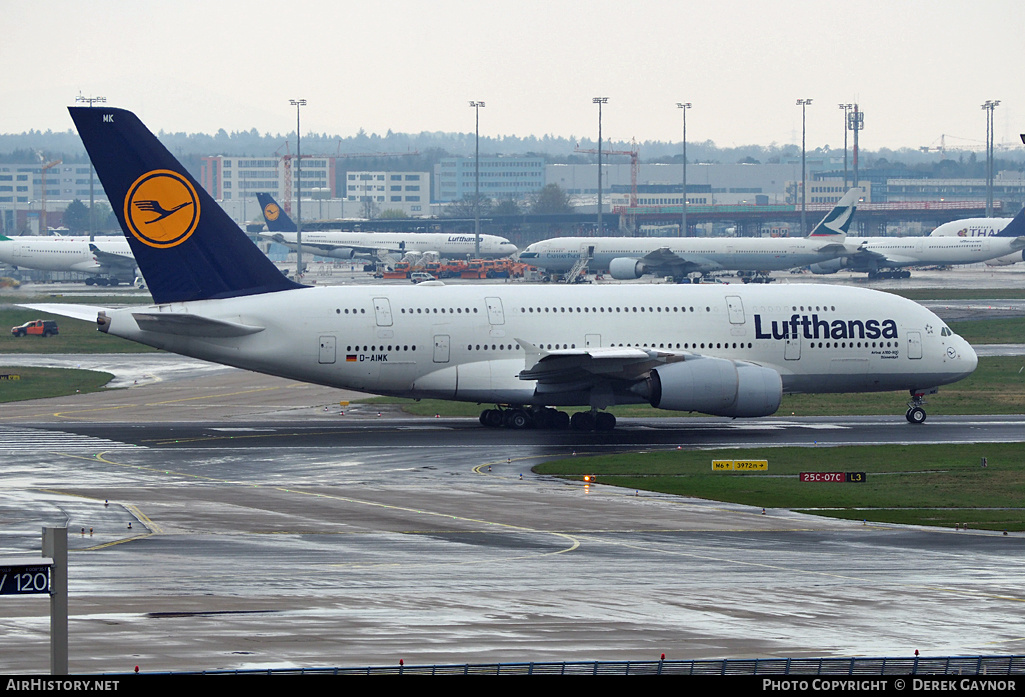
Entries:
<svg viewBox="0 0 1025 697">
<path fill-rule="evenodd" d="M 69 107 L 160 304 L 302 286 L 285 278 L 131 112 Z"/>
</svg>

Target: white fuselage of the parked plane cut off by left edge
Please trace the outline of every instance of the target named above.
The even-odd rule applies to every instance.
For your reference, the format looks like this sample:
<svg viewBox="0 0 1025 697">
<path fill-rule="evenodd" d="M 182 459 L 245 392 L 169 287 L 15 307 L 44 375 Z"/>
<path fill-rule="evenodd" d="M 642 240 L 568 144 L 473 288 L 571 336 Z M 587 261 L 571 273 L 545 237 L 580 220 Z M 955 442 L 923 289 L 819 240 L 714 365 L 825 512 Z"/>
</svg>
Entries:
<svg viewBox="0 0 1025 697">
<path fill-rule="evenodd" d="M 91 243 L 102 252 L 134 260 L 128 241 L 121 235 L 97 236 Z M 92 276 L 112 273 L 109 264 L 96 259 L 89 244 L 88 237 L 25 235 L 0 240 L 0 261 L 41 271 L 67 271 Z"/>
</svg>

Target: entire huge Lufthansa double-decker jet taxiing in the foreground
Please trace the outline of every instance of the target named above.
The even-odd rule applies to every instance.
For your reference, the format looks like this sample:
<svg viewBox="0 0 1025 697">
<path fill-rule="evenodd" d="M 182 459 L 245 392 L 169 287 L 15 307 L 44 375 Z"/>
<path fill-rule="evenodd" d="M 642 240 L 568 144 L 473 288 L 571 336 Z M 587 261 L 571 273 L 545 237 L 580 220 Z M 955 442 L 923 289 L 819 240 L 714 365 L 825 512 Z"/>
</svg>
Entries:
<svg viewBox="0 0 1025 697">
<path fill-rule="evenodd" d="M 493 404 L 488 426 L 603 430 L 615 425 L 604 409 L 619 404 L 753 417 L 787 393 L 898 389 L 920 422 L 922 396 L 977 364 L 929 310 L 861 288 L 301 286 L 133 114 L 71 114 L 156 302 L 92 311 L 100 331 L 148 345 L 361 392 Z M 589 410 L 571 419 L 560 406 Z"/>
</svg>

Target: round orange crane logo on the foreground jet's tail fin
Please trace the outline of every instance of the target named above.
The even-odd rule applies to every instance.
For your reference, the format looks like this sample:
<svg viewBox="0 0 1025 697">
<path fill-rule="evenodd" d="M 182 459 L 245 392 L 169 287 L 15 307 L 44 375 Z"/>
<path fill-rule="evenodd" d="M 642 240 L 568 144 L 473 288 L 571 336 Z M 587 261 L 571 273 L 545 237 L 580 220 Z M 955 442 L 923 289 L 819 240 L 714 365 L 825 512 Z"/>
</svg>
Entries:
<svg viewBox="0 0 1025 697">
<path fill-rule="evenodd" d="M 169 169 L 155 169 L 128 189 L 125 222 L 142 244 L 176 247 L 196 232 L 199 208 L 199 196 L 189 179 Z"/>
</svg>

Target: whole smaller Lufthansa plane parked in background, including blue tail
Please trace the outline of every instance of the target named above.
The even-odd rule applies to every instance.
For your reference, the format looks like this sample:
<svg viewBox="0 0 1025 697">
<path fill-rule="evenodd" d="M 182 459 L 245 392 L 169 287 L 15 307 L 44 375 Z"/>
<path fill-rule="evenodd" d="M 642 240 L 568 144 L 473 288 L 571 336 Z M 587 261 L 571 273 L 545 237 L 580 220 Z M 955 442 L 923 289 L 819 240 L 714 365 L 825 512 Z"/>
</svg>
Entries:
<svg viewBox="0 0 1025 697">
<path fill-rule="evenodd" d="M 270 194 L 257 194 L 263 209 L 263 219 L 271 232 L 260 237 L 296 249 L 295 222 L 288 217 Z M 477 249 L 474 236 L 449 233 L 346 233 L 340 230 L 303 231 L 302 249 L 318 256 L 351 259 L 366 256 L 388 259 L 409 252 L 436 252 L 447 259 L 474 256 Z M 481 258 L 499 258 L 515 254 L 517 246 L 497 235 L 481 235 Z"/>
</svg>

